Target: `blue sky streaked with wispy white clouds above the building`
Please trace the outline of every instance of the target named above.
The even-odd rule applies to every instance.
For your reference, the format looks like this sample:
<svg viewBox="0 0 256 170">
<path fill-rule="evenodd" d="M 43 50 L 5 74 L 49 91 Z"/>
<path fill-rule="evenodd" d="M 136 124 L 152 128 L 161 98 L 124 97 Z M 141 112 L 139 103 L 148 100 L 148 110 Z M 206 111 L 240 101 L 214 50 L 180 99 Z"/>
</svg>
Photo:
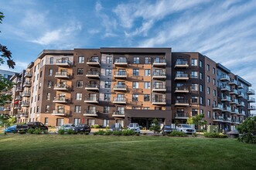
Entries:
<svg viewBox="0 0 256 170">
<path fill-rule="evenodd" d="M 256 87 L 256 1 L 0 0 L 16 71 L 43 49 L 172 47 L 200 52 Z M 8 70 L 5 65 L 0 69 Z"/>
</svg>

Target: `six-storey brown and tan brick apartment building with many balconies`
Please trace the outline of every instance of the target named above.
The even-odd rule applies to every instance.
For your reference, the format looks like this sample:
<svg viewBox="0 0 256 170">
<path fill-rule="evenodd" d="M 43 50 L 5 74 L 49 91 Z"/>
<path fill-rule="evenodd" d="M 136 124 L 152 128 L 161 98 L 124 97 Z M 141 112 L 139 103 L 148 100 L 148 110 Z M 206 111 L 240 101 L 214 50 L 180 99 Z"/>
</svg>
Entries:
<svg viewBox="0 0 256 170">
<path fill-rule="evenodd" d="M 233 129 L 255 110 L 251 83 L 171 48 L 43 50 L 11 80 L 9 114 L 19 122 L 148 128 L 154 118 L 178 124 L 204 113 L 207 124 Z"/>
</svg>

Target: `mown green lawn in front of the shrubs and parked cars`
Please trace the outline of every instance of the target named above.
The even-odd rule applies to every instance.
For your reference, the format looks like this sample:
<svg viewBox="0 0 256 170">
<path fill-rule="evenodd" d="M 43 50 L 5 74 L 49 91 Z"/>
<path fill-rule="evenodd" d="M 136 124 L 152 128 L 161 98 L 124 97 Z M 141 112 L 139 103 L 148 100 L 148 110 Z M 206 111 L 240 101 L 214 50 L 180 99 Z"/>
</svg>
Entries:
<svg viewBox="0 0 256 170">
<path fill-rule="evenodd" d="M 0 134 L 0 169 L 255 169 L 233 139 Z"/>
</svg>

